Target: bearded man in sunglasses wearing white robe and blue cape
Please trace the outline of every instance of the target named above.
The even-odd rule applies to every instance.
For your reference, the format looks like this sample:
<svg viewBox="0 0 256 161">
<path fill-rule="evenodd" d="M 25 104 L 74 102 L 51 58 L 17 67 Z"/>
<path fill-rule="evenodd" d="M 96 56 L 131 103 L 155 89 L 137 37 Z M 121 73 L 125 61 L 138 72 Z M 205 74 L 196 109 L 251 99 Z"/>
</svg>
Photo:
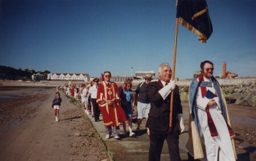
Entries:
<svg viewBox="0 0 256 161">
<path fill-rule="evenodd" d="M 206 60 L 200 68 L 201 75 L 189 87 L 189 159 L 235 160 L 234 131 L 220 84 L 213 77 L 213 63 Z"/>
</svg>

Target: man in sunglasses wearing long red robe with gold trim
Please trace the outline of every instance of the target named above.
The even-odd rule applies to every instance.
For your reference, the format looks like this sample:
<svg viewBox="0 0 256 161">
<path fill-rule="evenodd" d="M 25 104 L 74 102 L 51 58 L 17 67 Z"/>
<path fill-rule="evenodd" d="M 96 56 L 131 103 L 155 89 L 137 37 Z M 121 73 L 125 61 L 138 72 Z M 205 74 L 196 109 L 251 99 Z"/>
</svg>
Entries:
<svg viewBox="0 0 256 161">
<path fill-rule="evenodd" d="M 111 82 L 111 73 L 105 71 L 103 81 L 99 84 L 97 90 L 97 103 L 99 104 L 102 113 L 104 126 L 106 128 L 108 139 L 111 136 L 113 126 L 114 138 L 119 139 L 119 125 L 121 122 L 127 122 L 127 118 L 121 108 L 119 90 L 115 82 Z"/>
</svg>

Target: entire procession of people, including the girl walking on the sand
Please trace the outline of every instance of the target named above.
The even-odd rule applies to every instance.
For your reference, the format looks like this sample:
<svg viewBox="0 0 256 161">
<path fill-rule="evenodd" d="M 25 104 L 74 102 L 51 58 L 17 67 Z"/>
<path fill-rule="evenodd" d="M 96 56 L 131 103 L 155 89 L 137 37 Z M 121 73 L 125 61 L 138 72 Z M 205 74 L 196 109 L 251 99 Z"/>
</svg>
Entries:
<svg viewBox="0 0 256 161">
<path fill-rule="evenodd" d="M 225 98 L 220 84 L 213 77 L 213 63 L 204 61 L 200 65 L 201 75 L 189 87 L 189 140 L 186 145 L 189 160 L 235 160 L 233 137 Z M 141 121 L 147 119 L 145 127 L 149 136 L 149 160 L 160 160 L 162 146 L 166 140 L 170 160 L 181 160 L 179 135 L 184 132 L 184 118 L 178 86 L 172 81 L 172 69 L 168 63 L 159 66 L 159 81 L 151 82 L 151 75 L 132 91 L 132 82 L 127 80 L 117 87 L 111 81 L 111 72 L 105 71 L 101 81 L 95 78 L 88 84 L 64 86 L 63 91 L 81 101 L 86 112 L 100 121 L 102 114 L 105 139 L 113 133 L 115 139 L 123 135 L 134 137 L 132 117 L 137 105 L 137 130 Z M 100 82 L 99 82 L 100 81 Z M 56 93 L 56 99 L 59 94 Z M 59 100 L 60 101 L 60 100 Z M 170 102 L 172 101 L 172 109 Z M 57 101 L 56 101 L 57 102 Z M 54 104 L 53 104 L 54 105 Z M 59 102 L 60 105 L 60 102 Z M 55 108 L 55 106 L 53 106 Z M 56 110 L 58 108 L 56 107 Z M 55 112 L 58 116 L 58 111 Z"/>
</svg>

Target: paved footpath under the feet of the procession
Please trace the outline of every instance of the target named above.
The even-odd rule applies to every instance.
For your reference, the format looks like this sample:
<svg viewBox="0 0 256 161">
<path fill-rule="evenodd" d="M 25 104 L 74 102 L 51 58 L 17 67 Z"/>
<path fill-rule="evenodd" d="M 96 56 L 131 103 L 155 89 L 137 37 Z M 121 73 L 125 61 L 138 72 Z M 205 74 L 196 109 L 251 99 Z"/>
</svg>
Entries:
<svg viewBox="0 0 256 161">
<path fill-rule="evenodd" d="M 105 128 L 101 116 L 99 122 L 95 122 L 94 117 L 91 115 L 87 115 L 87 117 L 91 120 L 92 125 L 103 141 L 111 160 L 148 160 L 149 137 L 147 135 L 147 129 L 145 128 L 145 121 L 141 124 L 140 130 L 136 130 L 137 124 L 133 123 L 132 129 L 136 137 L 129 137 L 129 135 L 124 136 L 123 126 L 120 126 L 120 139 L 116 140 L 113 138 L 113 134 L 109 139 L 105 139 Z M 187 140 L 188 133 L 182 133 L 180 135 L 179 145 L 181 160 L 188 159 L 187 150 L 185 148 Z M 166 141 L 162 148 L 161 160 L 170 160 Z"/>
</svg>

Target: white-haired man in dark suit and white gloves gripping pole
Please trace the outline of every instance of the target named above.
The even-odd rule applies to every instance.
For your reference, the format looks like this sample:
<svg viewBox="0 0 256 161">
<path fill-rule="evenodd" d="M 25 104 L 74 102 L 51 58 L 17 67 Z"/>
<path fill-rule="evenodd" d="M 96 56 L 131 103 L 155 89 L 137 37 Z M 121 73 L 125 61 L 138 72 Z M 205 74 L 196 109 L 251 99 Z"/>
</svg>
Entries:
<svg viewBox="0 0 256 161">
<path fill-rule="evenodd" d="M 149 128 L 149 159 L 160 160 L 162 146 L 166 139 L 169 148 L 170 160 L 181 160 L 178 149 L 178 137 L 184 132 L 184 119 L 178 86 L 170 81 L 172 70 L 168 63 L 159 66 L 159 81 L 149 83 L 148 96 L 151 100 L 151 109 L 146 127 Z M 173 95 L 172 130 L 169 132 L 170 92 Z"/>
</svg>

